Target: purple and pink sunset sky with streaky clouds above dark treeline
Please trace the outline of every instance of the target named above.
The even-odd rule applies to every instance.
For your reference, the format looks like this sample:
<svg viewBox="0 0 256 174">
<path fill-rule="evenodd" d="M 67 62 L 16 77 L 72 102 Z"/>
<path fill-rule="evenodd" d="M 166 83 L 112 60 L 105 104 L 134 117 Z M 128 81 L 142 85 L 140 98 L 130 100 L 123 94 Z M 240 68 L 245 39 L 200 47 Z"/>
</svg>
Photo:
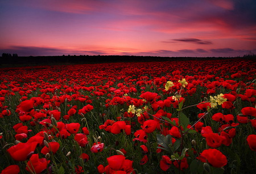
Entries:
<svg viewBox="0 0 256 174">
<path fill-rule="evenodd" d="M 0 0 L 0 54 L 256 54 L 255 0 Z"/>
</svg>

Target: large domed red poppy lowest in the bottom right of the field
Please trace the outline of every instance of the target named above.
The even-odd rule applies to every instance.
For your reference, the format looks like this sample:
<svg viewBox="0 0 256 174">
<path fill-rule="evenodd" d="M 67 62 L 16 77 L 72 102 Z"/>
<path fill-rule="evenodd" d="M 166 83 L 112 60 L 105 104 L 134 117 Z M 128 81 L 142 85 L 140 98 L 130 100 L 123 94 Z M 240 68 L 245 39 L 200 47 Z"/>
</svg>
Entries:
<svg viewBox="0 0 256 174">
<path fill-rule="evenodd" d="M 228 163 L 226 156 L 221 153 L 221 151 L 215 148 L 209 148 L 200 153 L 199 159 L 201 162 L 208 162 L 213 167 L 223 167 Z"/>
</svg>

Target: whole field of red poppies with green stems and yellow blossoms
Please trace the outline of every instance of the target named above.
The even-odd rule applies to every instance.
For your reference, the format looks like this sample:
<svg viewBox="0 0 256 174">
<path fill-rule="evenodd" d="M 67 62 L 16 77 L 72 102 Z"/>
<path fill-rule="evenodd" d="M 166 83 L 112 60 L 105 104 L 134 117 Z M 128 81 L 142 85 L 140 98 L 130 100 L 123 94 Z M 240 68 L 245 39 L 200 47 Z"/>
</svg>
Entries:
<svg viewBox="0 0 256 174">
<path fill-rule="evenodd" d="M 1 173 L 254 173 L 256 62 L 0 69 Z"/>
</svg>

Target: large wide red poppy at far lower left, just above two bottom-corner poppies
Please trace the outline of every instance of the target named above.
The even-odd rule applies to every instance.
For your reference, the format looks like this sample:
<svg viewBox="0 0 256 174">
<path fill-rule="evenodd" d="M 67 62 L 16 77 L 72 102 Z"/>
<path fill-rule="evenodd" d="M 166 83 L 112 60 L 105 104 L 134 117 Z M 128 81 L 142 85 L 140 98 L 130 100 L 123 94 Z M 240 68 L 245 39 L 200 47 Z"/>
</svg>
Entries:
<svg viewBox="0 0 256 174">
<path fill-rule="evenodd" d="M 38 142 L 18 143 L 17 145 L 8 148 L 7 152 L 9 152 L 14 160 L 24 161 L 30 158 L 30 156 L 34 153 L 37 145 Z"/>
</svg>

